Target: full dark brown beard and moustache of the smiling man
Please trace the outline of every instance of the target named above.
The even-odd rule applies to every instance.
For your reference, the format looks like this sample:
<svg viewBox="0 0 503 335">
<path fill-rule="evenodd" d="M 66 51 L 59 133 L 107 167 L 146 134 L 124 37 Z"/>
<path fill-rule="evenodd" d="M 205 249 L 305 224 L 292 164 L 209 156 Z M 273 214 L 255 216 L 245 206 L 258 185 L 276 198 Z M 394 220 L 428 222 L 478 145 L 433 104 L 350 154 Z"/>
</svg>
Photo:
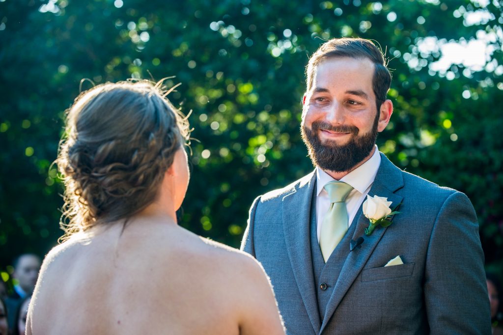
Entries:
<svg viewBox="0 0 503 335">
<path fill-rule="evenodd" d="M 331 126 L 327 122 L 314 121 L 311 128 L 303 125 L 301 134 L 307 146 L 309 157 L 315 166 L 322 170 L 333 172 L 346 172 L 352 170 L 362 162 L 374 148 L 377 138 L 378 116 L 369 133 L 358 136 L 359 129 L 355 126 Z M 327 140 L 321 143 L 318 130 L 350 133 L 353 136 L 348 143 L 339 145 L 335 141 Z"/>
</svg>

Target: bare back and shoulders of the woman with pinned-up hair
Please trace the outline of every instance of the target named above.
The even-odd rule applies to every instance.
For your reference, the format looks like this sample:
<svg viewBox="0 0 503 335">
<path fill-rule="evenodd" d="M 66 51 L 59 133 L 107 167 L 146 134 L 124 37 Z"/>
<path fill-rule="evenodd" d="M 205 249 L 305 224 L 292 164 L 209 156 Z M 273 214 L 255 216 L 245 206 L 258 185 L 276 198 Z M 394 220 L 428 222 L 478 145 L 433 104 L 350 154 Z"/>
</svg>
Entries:
<svg viewBox="0 0 503 335">
<path fill-rule="evenodd" d="M 158 217 L 122 227 L 50 253 L 33 333 L 283 333 L 255 260 Z"/>
</svg>

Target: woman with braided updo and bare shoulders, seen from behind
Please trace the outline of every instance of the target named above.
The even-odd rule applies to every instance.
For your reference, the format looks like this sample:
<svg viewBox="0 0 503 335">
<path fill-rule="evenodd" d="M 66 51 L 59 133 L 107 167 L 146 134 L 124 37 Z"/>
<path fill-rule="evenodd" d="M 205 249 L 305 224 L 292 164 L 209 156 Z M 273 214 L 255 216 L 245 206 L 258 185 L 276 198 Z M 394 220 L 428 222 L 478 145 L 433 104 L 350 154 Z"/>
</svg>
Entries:
<svg viewBox="0 0 503 335">
<path fill-rule="evenodd" d="M 69 222 L 27 334 L 284 334 L 261 265 L 177 224 L 189 130 L 162 94 L 106 83 L 69 109 L 56 160 Z"/>
</svg>

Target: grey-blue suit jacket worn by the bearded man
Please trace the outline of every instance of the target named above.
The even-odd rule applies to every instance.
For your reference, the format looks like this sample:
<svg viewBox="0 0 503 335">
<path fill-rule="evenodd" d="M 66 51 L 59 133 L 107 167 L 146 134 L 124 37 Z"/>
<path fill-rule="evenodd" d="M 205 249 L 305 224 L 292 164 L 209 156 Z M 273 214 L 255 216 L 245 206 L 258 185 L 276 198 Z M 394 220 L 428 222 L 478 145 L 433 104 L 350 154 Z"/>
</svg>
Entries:
<svg viewBox="0 0 503 335">
<path fill-rule="evenodd" d="M 350 251 L 328 302 L 317 308 L 309 238 L 316 175 L 258 197 L 241 249 L 271 278 L 289 334 L 490 334 L 478 222 L 468 198 L 402 172 L 381 153 L 369 192 L 401 203 L 370 236 L 360 209 Z M 384 267 L 396 256 L 402 265 Z"/>
</svg>

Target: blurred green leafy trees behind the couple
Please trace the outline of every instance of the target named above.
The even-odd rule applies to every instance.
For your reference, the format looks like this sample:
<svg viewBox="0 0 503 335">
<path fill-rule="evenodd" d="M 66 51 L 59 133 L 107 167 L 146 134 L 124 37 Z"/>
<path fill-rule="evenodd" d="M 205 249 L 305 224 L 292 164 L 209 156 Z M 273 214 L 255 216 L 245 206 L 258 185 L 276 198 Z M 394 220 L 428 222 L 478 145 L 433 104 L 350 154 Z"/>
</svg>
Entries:
<svg viewBox="0 0 503 335">
<path fill-rule="evenodd" d="M 193 111 L 200 141 L 181 224 L 238 246 L 253 199 L 312 170 L 299 135 L 309 55 L 326 39 L 353 36 L 376 40 L 393 72 L 395 112 L 380 150 L 465 192 L 487 267 L 501 271 L 503 16 L 492 1 L 483 9 L 491 15 L 469 25 L 478 10 L 468 0 L 0 0 L 0 266 L 23 252 L 43 256 L 62 234 L 51 162 L 82 78 L 176 75 L 167 85 L 182 86 L 170 99 Z M 438 47 L 417 46 L 481 31 L 496 34 L 480 71 L 432 71 Z"/>
</svg>

